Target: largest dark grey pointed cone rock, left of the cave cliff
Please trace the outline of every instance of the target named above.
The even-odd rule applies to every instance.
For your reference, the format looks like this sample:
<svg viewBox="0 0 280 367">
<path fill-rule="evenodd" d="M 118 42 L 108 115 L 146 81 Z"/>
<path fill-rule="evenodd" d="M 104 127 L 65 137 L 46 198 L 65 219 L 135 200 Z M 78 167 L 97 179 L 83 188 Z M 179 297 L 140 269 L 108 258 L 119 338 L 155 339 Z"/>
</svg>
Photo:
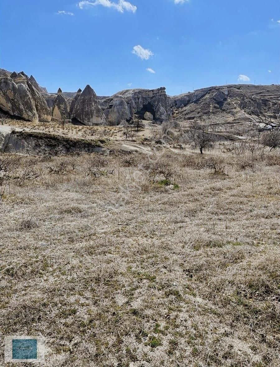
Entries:
<svg viewBox="0 0 280 367">
<path fill-rule="evenodd" d="M 97 95 L 89 85 L 84 88 L 77 99 L 71 117 L 89 126 L 104 125 L 107 123 L 106 117 L 99 105 Z"/>
</svg>

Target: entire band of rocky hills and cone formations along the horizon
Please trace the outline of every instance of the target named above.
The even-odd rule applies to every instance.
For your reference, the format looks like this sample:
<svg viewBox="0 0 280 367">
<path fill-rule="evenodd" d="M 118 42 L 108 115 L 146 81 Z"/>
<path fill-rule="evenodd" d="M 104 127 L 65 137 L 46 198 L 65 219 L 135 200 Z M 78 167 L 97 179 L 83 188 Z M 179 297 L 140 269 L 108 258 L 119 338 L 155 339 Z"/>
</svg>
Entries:
<svg viewBox="0 0 280 367">
<path fill-rule="evenodd" d="M 48 93 L 23 71 L 0 69 L 0 110 L 24 120 L 68 120 L 84 125 L 119 125 L 132 119 L 163 123 L 199 120 L 206 124 L 275 121 L 280 115 L 280 86 L 232 84 L 168 96 L 164 87 L 123 90 L 97 96 L 83 92 Z"/>
</svg>

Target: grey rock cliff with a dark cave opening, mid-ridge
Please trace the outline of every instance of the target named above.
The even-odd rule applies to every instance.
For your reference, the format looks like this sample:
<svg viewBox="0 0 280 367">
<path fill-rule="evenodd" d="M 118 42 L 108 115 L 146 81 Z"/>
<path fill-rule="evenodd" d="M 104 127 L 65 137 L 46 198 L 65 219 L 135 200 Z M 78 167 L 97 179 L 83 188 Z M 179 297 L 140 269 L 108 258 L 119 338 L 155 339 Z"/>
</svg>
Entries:
<svg viewBox="0 0 280 367">
<path fill-rule="evenodd" d="M 149 112 L 156 122 L 166 121 L 172 116 L 170 102 L 166 89 L 162 87 L 153 90 L 124 90 L 102 99 L 100 105 L 110 123 L 118 125 L 122 121 L 132 119 L 134 115 L 144 119 L 146 112 Z"/>
</svg>

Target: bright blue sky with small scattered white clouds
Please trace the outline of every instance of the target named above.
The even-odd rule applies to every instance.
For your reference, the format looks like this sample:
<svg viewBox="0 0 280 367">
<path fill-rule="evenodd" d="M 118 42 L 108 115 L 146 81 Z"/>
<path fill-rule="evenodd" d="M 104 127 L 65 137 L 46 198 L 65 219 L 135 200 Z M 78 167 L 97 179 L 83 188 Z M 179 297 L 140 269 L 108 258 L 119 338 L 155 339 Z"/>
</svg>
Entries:
<svg viewBox="0 0 280 367">
<path fill-rule="evenodd" d="M 280 83 L 279 0 L 1 0 L 0 11 L 0 67 L 50 92 Z"/>
</svg>

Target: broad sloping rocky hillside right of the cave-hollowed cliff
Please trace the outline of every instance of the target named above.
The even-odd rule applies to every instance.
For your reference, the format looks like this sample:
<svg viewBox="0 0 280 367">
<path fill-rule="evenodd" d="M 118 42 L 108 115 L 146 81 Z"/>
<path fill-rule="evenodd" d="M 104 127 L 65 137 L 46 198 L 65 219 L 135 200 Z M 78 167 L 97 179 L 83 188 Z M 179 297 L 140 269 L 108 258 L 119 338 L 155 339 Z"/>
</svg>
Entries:
<svg viewBox="0 0 280 367">
<path fill-rule="evenodd" d="M 208 123 L 276 120 L 280 114 L 280 86 L 226 85 L 209 87 L 171 98 L 179 121 Z"/>
</svg>

